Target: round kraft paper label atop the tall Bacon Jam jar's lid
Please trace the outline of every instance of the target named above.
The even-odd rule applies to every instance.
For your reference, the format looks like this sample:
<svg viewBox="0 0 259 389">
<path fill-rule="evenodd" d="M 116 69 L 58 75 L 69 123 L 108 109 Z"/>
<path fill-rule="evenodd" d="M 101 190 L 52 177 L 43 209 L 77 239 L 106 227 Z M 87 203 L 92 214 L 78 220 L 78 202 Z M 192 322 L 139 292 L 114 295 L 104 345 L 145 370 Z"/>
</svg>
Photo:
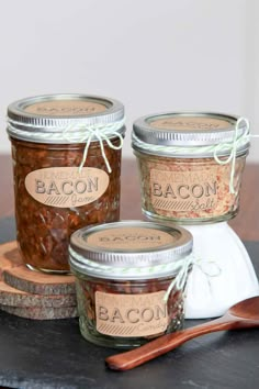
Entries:
<svg viewBox="0 0 259 389">
<path fill-rule="evenodd" d="M 27 105 L 24 111 L 43 116 L 78 116 L 99 113 L 108 108 L 90 100 L 50 100 Z"/>
</svg>

